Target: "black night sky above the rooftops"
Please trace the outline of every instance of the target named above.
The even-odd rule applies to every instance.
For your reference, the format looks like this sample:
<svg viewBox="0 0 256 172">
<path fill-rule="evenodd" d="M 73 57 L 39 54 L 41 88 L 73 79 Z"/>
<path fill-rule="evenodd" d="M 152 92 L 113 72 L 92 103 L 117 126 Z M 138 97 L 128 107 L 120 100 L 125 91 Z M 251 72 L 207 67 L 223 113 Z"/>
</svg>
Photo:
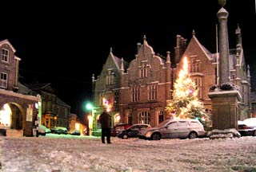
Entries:
<svg viewBox="0 0 256 172">
<path fill-rule="evenodd" d="M 217 0 L 138 2 L 12 4 L 2 10 L 0 39 L 8 39 L 22 59 L 23 80 L 54 84 L 71 112 L 83 115 L 82 102 L 92 100 L 91 76 L 100 74 L 110 47 L 130 62 L 145 34 L 154 52 L 166 55 L 174 52 L 177 34 L 190 41 L 194 29 L 202 45 L 216 52 Z M 246 63 L 254 72 L 255 1 L 227 0 L 225 8 L 230 48 L 239 23 Z"/>
</svg>

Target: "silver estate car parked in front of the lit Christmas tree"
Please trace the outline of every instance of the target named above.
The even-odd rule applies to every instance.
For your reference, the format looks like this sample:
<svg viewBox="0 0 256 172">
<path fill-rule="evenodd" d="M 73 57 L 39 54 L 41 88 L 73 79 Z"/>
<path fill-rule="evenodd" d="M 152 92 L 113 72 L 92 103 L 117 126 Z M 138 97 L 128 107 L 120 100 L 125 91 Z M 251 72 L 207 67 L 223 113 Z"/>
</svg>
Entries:
<svg viewBox="0 0 256 172">
<path fill-rule="evenodd" d="M 139 131 L 140 139 L 195 139 L 204 137 L 206 131 L 197 119 L 167 119 L 157 127 Z"/>
</svg>

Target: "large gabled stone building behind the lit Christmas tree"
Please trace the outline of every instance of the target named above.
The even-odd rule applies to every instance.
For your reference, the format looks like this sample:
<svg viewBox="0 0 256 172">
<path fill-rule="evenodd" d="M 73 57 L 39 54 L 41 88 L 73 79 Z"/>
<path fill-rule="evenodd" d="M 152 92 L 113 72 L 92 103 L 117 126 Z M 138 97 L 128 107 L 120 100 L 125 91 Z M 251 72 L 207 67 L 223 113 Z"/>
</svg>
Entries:
<svg viewBox="0 0 256 172">
<path fill-rule="evenodd" d="M 236 29 L 237 43 L 229 51 L 230 82 L 237 84 L 242 96 L 239 104 L 239 119 L 250 116 L 250 71 L 246 67 L 242 49 L 241 29 Z M 158 56 L 143 37 L 138 43 L 138 53 L 130 63 L 114 56 L 112 49 L 103 65 L 102 72 L 92 77 L 94 95 L 93 135 L 100 128 L 98 115 L 103 106 L 109 107 L 112 126 L 116 123 L 149 123 L 156 126 L 166 119 L 166 105 L 171 100 L 171 89 L 182 68 L 181 61 L 187 57 L 190 77 L 199 89 L 198 98 L 211 114 L 211 100 L 207 95 L 210 87 L 218 84 L 218 53 L 210 53 L 195 32 L 187 44 L 187 39 L 176 37 L 174 58 L 170 52 L 166 57 Z M 174 59 L 174 64 L 171 63 Z"/>
</svg>

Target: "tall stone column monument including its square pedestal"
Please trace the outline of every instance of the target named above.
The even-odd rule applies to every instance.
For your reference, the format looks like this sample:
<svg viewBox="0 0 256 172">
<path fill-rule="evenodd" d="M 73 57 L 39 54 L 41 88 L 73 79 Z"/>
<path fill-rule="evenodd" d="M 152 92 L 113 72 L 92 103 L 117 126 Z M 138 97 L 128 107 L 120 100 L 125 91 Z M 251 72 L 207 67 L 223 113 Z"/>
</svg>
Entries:
<svg viewBox="0 0 256 172">
<path fill-rule="evenodd" d="M 224 130 L 238 127 L 239 102 L 238 89 L 230 84 L 230 61 L 227 18 L 229 13 L 224 9 L 225 0 L 218 0 L 218 47 L 219 47 L 219 87 L 208 96 L 212 101 L 213 129 Z M 231 85 L 231 86 L 230 86 Z"/>
</svg>

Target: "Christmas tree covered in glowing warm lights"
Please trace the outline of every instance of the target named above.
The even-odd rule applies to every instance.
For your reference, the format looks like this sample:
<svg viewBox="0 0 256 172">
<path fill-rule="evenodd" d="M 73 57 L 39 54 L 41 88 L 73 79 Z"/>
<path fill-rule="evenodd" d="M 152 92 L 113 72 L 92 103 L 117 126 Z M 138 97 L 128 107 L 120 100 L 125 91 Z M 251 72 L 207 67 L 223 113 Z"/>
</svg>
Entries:
<svg viewBox="0 0 256 172">
<path fill-rule="evenodd" d="M 198 119 L 205 127 L 210 122 L 202 102 L 198 100 L 197 85 L 190 78 L 186 57 L 174 83 L 173 99 L 167 105 L 166 111 L 173 118 Z"/>
</svg>

